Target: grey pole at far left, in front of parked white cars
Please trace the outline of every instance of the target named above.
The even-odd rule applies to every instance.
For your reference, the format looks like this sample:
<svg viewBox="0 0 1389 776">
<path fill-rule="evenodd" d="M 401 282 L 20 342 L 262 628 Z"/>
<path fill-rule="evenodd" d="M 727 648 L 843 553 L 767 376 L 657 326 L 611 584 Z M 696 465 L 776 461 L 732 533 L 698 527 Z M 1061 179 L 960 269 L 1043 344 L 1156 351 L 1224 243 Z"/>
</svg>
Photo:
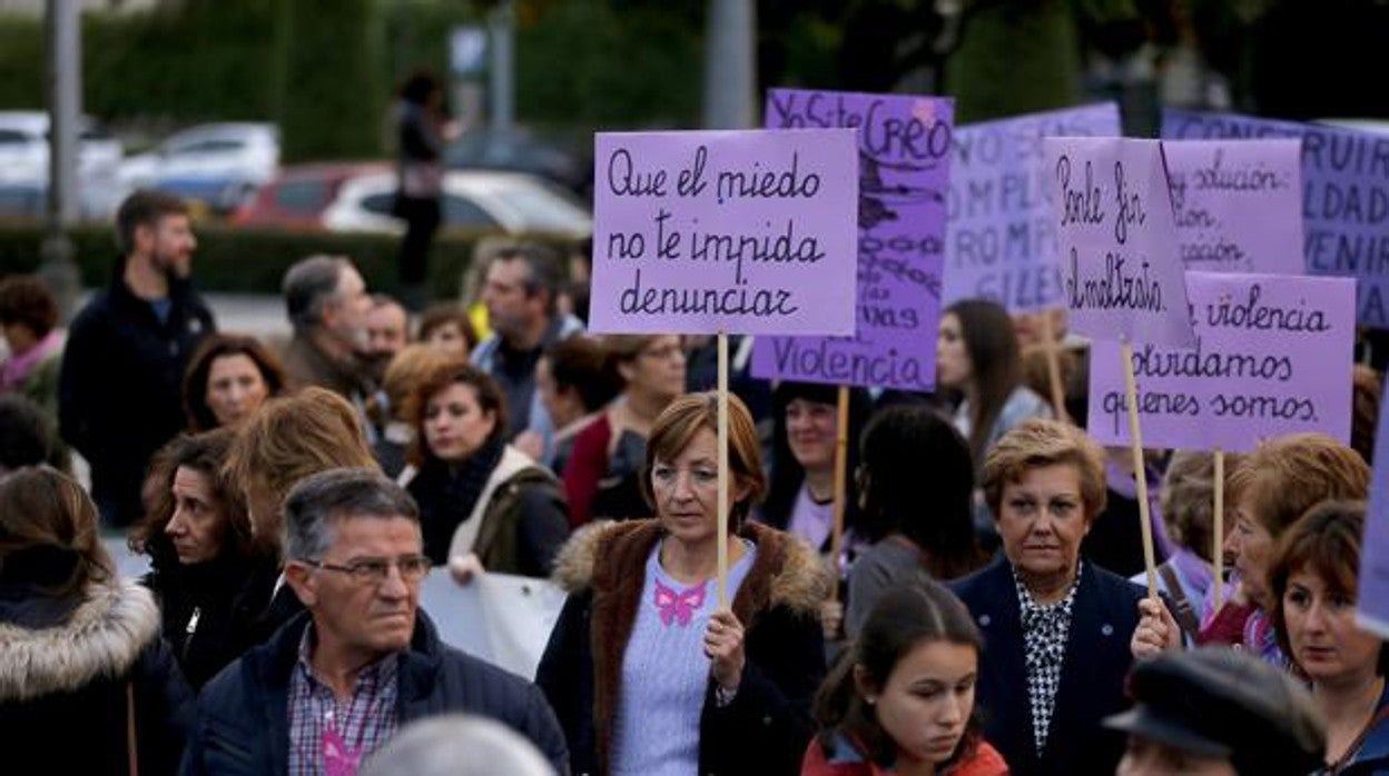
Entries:
<svg viewBox="0 0 1389 776">
<path fill-rule="evenodd" d="M 39 278 L 63 319 L 76 308 L 82 278 L 68 229 L 76 222 L 78 122 L 82 117 L 82 42 L 78 0 L 47 0 L 49 189 Z"/>
</svg>

